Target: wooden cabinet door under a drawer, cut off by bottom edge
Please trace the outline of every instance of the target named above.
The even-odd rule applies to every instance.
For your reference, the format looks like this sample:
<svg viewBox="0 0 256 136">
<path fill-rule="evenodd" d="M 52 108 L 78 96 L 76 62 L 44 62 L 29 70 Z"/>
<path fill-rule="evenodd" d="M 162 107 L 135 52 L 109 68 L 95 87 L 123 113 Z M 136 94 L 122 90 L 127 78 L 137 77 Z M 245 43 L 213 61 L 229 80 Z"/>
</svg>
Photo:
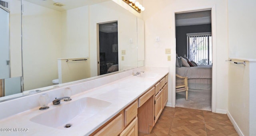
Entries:
<svg viewBox="0 0 256 136">
<path fill-rule="evenodd" d="M 136 117 L 129 126 L 127 126 L 120 136 L 138 136 L 138 118 Z"/>
</svg>

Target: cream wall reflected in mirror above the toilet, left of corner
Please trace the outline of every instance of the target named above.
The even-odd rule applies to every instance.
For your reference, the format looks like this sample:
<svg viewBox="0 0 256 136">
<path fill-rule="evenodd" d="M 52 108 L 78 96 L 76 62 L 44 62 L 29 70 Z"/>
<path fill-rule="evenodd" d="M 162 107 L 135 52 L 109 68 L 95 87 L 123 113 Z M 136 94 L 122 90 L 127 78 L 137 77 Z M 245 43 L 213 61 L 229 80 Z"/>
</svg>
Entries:
<svg viewBox="0 0 256 136">
<path fill-rule="evenodd" d="M 53 85 L 52 80 L 58 78 L 61 13 L 22 2 L 24 88 L 31 90 Z"/>
</svg>

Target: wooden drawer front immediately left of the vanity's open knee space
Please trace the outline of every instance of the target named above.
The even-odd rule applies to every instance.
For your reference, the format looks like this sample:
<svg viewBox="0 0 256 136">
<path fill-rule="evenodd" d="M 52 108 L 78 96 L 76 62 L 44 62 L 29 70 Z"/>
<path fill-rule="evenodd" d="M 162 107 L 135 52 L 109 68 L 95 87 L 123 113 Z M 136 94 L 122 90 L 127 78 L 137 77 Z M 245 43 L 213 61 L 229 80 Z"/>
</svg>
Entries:
<svg viewBox="0 0 256 136">
<path fill-rule="evenodd" d="M 138 101 L 124 110 L 124 126 L 127 126 L 138 114 Z"/>
</svg>

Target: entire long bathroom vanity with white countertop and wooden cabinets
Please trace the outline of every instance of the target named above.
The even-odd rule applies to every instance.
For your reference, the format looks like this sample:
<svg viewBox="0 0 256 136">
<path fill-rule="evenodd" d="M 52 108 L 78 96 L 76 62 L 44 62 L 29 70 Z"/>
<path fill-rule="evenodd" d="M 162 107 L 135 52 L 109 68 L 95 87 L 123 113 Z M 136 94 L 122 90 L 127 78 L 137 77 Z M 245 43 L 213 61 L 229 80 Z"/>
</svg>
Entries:
<svg viewBox="0 0 256 136">
<path fill-rule="evenodd" d="M 134 76 L 135 70 L 145 72 Z M 6 111 L 8 115 L 0 116 L 0 128 L 27 128 L 28 131 L 2 131 L 0 135 L 137 136 L 138 131 L 150 133 L 168 101 L 168 68 L 135 70 L 46 91 L 50 97 L 47 110 L 39 110 L 37 102 L 42 93 L 1 102 L 0 108 L 14 105 L 16 111 Z M 96 85 L 100 86 L 94 87 Z M 72 101 L 53 105 L 54 97 L 62 97 L 66 88 L 72 91 Z M 34 103 L 37 106 L 25 109 Z"/>
</svg>

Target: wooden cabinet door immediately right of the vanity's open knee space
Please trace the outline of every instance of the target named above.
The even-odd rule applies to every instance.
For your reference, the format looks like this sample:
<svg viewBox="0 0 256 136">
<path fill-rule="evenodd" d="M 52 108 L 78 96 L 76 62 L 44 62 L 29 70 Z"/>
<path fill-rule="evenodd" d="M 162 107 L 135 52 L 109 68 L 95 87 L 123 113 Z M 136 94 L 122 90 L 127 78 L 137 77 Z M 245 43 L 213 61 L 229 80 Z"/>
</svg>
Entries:
<svg viewBox="0 0 256 136">
<path fill-rule="evenodd" d="M 162 110 L 163 110 L 163 95 L 162 95 L 162 90 L 156 95 L 155 97 L 155 117 L 154 117 L 154 122 L 158 120 Z"/>
</svg>

